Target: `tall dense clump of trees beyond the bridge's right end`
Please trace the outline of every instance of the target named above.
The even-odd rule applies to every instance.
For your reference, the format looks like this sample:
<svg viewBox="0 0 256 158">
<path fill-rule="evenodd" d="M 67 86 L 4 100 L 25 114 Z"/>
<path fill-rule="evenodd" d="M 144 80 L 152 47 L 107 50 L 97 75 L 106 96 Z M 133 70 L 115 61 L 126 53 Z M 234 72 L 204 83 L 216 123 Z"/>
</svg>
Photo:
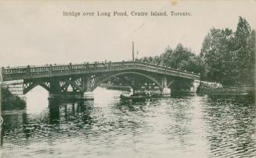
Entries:
<svg viewBox="0 0 256 158">
<path fill-rule="evenodd" d="M 240 17 L 236 32 L 212 28 L 200 51 L 203 78 L 225 86 L 254 85 L 255 31 Z"/>
</svg>

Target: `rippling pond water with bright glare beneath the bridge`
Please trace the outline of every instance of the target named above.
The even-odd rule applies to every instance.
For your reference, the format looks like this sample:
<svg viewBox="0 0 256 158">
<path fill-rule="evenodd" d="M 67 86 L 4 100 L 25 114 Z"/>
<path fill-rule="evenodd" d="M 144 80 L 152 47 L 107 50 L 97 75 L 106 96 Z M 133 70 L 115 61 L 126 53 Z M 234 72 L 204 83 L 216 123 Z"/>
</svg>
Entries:
<svg viewBox="0 0 256 158">
<path fill-rule="evenodd" d="M 188 96 L 123 103 L 97 88 L 87 103 L 3 111 L 2 157 L 256 157 L 256 107 L 240 98 Z M 50 105 L 49 105 L 50 104 Z"/>
</svg>

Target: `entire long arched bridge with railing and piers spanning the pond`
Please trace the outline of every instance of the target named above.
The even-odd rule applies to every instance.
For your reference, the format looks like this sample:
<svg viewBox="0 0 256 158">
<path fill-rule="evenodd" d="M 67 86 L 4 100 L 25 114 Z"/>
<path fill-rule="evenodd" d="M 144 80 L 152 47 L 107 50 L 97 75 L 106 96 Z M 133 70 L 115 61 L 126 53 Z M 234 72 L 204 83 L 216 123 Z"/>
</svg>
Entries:
<svg viewBox="0 0 256 158">
<path fill-rule="evenodd" d="M 2 68 L 3 81 L 23 79 L 23 93 L 42 86 L 50 95 L 76 94 L 92 97 L 93 90 L 108 79 L 117 78 L 139 90 L 189 89 L 200 75 L 140 61 L 95 62 L 69 65 L 42 65 Z"/>
</svg>

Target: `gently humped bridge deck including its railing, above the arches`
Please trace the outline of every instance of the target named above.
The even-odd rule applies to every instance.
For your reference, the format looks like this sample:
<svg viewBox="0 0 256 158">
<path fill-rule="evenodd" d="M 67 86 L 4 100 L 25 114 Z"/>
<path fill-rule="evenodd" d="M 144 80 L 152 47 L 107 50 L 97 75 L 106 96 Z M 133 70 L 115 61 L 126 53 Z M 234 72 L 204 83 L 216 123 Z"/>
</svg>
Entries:
<svg viewBox="0 0 256 158">
<path fill-rule="evenodd" d="M 82 75 L 114 71 L 141 70 L 153 72 L 159 75 L 171 75 L 185 79 L 200 79 L 199 74 L 186 72 L 175 68 L 168 68 L 160 65 L 152 65 L 141 61 L 121 61 L 121 62 L 95 62 L 69 65 L 41 65 L 27 67 L 2 68 L 2 78 L 4 81 L 18 79 L 40 79 L 56 76 Z"/>
</svg>

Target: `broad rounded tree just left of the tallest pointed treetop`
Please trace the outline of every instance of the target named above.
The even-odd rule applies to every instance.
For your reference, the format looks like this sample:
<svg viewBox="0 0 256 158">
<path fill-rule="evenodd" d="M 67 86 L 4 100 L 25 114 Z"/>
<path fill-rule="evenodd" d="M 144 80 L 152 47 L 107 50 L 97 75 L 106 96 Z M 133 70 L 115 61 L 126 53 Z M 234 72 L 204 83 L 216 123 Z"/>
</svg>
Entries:
<svg viewBox="0 0 256 158">
<path fill-rule="evenodd" d="M 212 28 L 204 39 L 200 57 L 204 61 L 204 76 L 208 80 L 229 85 L 233 82 L 233 31 Z M 229 76 L 227 78 L 227 76 Z"/>
</svg>

